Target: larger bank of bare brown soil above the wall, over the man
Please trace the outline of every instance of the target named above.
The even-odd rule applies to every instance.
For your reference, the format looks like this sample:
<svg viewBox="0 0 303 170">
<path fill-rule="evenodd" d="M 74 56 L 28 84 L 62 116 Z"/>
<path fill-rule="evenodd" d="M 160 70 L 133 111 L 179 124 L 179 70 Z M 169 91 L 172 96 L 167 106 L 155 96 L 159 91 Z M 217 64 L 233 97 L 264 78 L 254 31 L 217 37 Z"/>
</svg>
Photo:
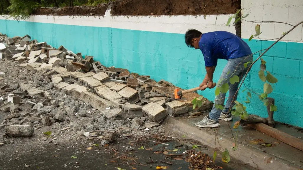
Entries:
<svg viewBox="0 0 303 170">
<path fill-rule="evenodd" d="M 112 15 L 234 14 L 241 0 L 117 0 Z"/>
</svg>

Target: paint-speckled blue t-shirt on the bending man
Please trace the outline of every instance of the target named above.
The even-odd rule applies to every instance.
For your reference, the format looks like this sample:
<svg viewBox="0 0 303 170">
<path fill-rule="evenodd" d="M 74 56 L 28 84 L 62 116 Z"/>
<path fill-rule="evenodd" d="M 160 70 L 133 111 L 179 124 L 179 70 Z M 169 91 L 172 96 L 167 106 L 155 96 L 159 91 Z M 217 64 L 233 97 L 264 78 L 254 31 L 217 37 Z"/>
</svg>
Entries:
<svg viewBox="0 0 303 170">
<path fill-rule="evenodd" d="M 199 41 L 205 66 L 217 66 L 218 58 L 230 59 L 252 54 L 250 47 L 240 37 L 227 31 L 202 34 Z"/>
</svg>

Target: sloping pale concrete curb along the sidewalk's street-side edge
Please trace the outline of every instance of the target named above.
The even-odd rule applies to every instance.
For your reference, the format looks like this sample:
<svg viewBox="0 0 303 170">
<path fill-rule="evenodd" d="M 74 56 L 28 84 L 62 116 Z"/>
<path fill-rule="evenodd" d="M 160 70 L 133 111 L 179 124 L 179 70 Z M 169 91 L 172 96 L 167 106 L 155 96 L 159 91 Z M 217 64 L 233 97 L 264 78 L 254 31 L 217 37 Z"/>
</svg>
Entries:
<svg viewBox="0 0 303 170">
<path fill-rule="evenodd" d="M 176 117 L 168 117 L 162 124 L 166 129 L 182 133 L 188 138 L 198 140 L 211 148 L 215 148 L 215 132 L 210 133 L 204 131 L 203 129 L 192 126 L 188 122 Z M 231 149 L 231 146 L 234 143 L 233 139 L 227 138 L 220 134 L 218 134 L 218 139 L 220 139 L 220 145 L 223 148 L 228 149 L 231 157 L 237 159 L 238 161 L 244 162 L 244 164 L 249 164 L 254 168 L 258 168 L 260 170 L 299 170 L 302 168 L 299 165 L 295 165 L 287 160 L 262 152 L 256 148 L 246 145 L 245 143 L 239 143 L 237 150 L 233 151 Z M 223 152 L 220 145 L 218 145 L 217 142 L 217 148 L 220 149 L 220 152 Z M 270 157 L 272 157 L 272 159 L 269 163 L 267 163 L 267 159 Z"/>
</svg>

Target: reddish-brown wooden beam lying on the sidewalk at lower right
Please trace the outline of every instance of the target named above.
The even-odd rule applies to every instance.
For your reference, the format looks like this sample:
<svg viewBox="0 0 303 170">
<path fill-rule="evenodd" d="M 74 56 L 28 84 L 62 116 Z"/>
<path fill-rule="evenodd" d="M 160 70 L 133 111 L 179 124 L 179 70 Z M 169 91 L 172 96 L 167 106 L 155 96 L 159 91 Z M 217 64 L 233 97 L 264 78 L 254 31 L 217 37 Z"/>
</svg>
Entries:
<svg viewBox="0 0 303 170">
<path fill-rule="evenodd" d="M 303 140 L 301 139 L 288 135 L 285 132 L 265 125 L 264 123 L 253 123 L 248 124 L 247 126 L 303 151 Z"/>
</svg>

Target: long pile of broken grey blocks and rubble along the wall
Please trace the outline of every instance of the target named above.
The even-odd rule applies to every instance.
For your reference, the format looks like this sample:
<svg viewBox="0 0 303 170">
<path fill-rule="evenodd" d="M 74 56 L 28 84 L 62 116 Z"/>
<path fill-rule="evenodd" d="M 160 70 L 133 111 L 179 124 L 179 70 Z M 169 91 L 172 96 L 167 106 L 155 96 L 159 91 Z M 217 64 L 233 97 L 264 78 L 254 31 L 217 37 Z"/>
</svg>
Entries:
<svg viewBox="0 0 303 170">
<path fill-rule="evenodd" d="M 193 111 L 191 100 L 197 93 L 175 100 L 178 87 L 165 80 L 105 67 L 92 56 L 82 59 L 81 53 L 28 35 L 9 38 L 0 33 L 0 59 L 0 113 L 10 112 L 0 127 L 8 136 L 32 136 L 34 129 L 52 124 L 73 128 L 78 136 L 118 127 L 159 132 L 168 115 L 189 116 L 211 108 L 205 99 Z"/>
</svg>

